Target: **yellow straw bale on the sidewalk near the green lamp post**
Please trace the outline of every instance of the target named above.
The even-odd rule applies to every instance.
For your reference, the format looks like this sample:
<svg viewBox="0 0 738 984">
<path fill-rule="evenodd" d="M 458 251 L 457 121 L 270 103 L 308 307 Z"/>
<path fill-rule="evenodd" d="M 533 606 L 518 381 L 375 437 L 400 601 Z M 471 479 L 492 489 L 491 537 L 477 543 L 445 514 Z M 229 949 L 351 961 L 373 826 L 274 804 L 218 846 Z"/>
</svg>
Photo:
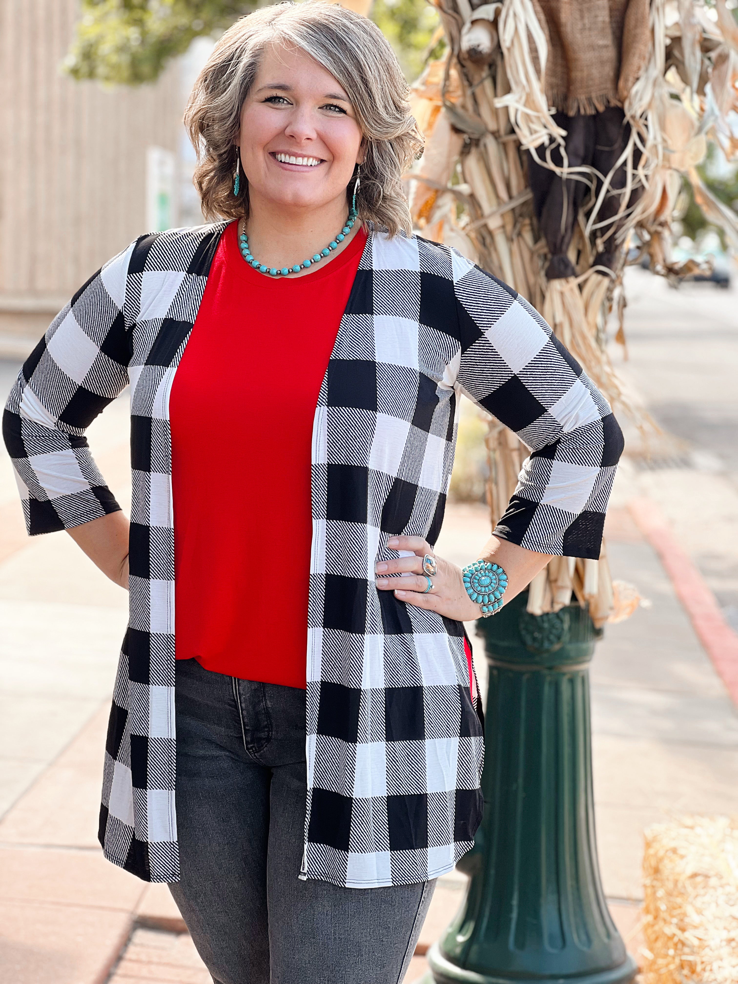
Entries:
<svg viewBox="0 0 738 984">
<path fill-rule="evenodd" d="M 738 981 L 738 824 L 691 817 L 646 830 L 644 984 Z"/>
</svg>

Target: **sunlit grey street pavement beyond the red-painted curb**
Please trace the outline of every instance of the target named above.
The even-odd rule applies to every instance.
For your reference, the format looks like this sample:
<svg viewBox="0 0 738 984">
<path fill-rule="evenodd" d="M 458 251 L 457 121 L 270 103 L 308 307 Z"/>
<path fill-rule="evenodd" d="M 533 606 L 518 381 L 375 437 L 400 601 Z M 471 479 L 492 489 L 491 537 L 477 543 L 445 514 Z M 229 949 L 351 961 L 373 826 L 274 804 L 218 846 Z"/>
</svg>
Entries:
<svg viewBox="0 0 738 984">
<path fill-rule="evenodd" d="M 630 359 L 613 364 L 663 428 L 626 455 L 738 632 L 738 276 L 729 290 L 625 275 Z M 613 326 L 614 328 L 614 326 Z M 614 333 L 613 333 L 614 334 Z"/>
</svg>

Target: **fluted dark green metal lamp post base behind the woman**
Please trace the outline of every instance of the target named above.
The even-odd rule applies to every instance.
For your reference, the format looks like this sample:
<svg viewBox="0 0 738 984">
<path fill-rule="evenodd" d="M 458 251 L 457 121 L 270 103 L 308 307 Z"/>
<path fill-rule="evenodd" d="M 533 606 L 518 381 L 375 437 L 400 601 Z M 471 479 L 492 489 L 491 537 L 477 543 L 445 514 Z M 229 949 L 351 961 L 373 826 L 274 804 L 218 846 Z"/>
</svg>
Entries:
<svg viewBox="0 0 738 984">
<path fill-rule="evenodd" d="M 461 910 L 428 953 L 436 984 L 626 984 L 637 966 L 610 917 L 594 837 L 588 663 L 574 604 L 478 623 L 490 663 L 484 819 L 459 867 Z"/>
</svg>

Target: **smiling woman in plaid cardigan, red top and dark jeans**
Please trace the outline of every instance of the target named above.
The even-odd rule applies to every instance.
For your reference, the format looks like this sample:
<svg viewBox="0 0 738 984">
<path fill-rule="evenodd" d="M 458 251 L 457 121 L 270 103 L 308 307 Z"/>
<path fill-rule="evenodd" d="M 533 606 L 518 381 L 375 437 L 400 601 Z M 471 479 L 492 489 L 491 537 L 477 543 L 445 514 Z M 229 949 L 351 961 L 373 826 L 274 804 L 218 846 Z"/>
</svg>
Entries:
<svg viewBox="0 0 738 984">
<path fill-rule="evenodd" d="M 598 556 L 622 448 L 523 298 L 412 236 L 406 94 L 338 6 L 237 22 L 186 115 L 223 220 L 106 264 L 5 414 L 31 534 L 130 591 L 105 855 L 170 883 L 221 984 L 402 979 L 481 817 L 461 623 Z M 84 437 L 129 381 L 130 525 Z M 533 449 L 464 572 L 433 554 L 461 393 Z"/>
</svg>

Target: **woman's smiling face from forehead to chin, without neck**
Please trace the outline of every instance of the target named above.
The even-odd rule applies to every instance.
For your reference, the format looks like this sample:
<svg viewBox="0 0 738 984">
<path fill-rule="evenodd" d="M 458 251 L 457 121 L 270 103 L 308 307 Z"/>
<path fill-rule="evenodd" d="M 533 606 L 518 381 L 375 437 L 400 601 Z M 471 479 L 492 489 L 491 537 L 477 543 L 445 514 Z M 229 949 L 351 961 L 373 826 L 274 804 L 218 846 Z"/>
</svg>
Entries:
<svg viewBox="0 0 738 984">
<path fill-rule="evenodd" d="M 252 206 L 260 198 L 307 210 L 343 202 L 363 159 L 348 96 L 299 48 L 265 51 L 241 109 L 237 140 Z"/>
</svg>

